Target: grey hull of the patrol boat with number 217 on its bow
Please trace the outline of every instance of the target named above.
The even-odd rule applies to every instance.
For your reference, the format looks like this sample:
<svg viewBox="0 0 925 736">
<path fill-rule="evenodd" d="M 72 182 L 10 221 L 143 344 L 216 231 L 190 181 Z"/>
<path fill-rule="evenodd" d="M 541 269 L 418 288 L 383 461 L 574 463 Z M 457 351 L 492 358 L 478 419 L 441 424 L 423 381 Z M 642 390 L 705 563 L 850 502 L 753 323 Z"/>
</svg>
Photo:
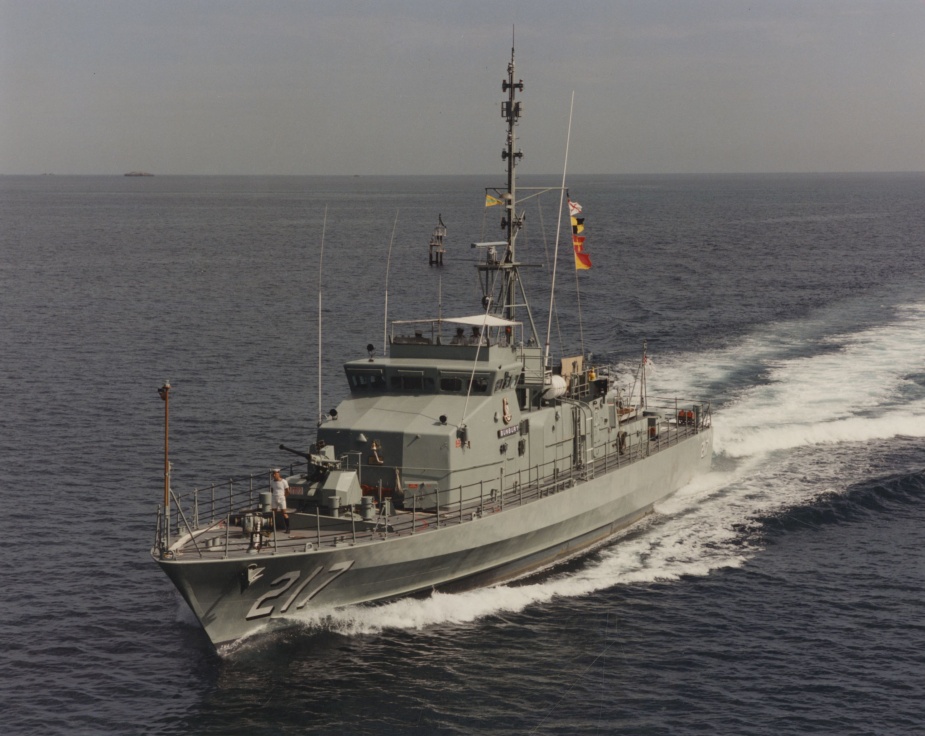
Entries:
<svg viewBox="0 0 925 736">
<path fill-rule="evenodd" d="M 158 563 L 216 645 L 293 624 L 300 612 L 485 585 L 574 555 L 639 520 L 709 469 L 712 429 L 528 503 L 416 533 L 290 552 Z M 311 545 L 306 545 L 306 547 Z"/>
</svg>

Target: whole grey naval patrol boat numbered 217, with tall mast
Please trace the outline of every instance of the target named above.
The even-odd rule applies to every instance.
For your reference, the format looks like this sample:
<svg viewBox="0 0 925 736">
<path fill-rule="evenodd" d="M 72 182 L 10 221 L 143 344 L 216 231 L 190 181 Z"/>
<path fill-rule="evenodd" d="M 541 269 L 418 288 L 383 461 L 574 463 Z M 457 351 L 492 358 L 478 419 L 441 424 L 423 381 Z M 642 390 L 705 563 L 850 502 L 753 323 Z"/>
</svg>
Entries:
<svg viewBox="0 0 925 736">
<path fill-rule="evenodd" d="M 345 364 L 349 397 L 307 452 L 290 450 L 303 459 L 288 471 L 286 517 L 263 475 L 174 494 L 165 421 L 152 555 L 216 647 L 307 613 L 522 576 L 606 540 L 710 467 L 709 403 L 627 396 L 585 356 L 550 364 L 516 257 L 513 49 L 502 89 L 507 238 L 474 244 L 483 309 L 394 322 L 387 357 L 369 346 Z"/>
</svg>

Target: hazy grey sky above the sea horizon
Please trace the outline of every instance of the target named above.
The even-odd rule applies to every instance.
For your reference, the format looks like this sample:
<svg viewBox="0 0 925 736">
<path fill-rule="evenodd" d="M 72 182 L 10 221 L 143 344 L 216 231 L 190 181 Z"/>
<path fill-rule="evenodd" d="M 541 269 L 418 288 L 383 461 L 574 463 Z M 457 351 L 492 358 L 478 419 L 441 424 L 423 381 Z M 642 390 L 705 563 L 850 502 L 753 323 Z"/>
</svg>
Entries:
<svg viewBox="0 0 925 736">
<path fill-rule="evenodd" d="M 923 0 L 0 0 L 0 174 L 925 170 Z"/>
</svg>

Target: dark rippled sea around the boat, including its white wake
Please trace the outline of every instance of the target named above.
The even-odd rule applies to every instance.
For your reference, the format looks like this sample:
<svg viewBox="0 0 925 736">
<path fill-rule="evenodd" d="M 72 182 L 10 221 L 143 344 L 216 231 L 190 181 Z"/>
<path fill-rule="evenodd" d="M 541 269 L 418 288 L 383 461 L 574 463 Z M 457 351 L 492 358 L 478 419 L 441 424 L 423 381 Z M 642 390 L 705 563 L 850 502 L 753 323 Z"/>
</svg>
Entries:
<svg viewBox="0 0 925 736">
<path fill-rule="evenodd" d="M 149 555 L 157 388 L 176 491 L 288 462 L 387 319 L 478 309 L 502 181 L 0 177 L 3 733 L 925 733 L 925 174 L 575 176 L 552 319 L 529 200 L 538 331 L 627 381 L 646 340 L 713 472 L 542 575 L 212 648 Z"/>
</svg>

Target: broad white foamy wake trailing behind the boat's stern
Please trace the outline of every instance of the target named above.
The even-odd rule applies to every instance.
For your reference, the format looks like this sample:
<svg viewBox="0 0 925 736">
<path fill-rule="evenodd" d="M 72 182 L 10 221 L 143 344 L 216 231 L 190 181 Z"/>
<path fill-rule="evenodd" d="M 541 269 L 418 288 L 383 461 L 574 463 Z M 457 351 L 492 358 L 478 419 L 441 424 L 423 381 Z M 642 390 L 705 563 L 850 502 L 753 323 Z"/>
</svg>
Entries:
<svg viewBox="0 0 925 736">
<path fill-rule="evenodd" d="M 786 333 L 792 326 L 780 329 Z M 823 352 L 808 357 L 781 359 L 767 351 L 767 344 L 785 346 L 785 340 L 762 346 L 753 341 L 702 356 L 699 364 L 714 366 L 712 374 L 703 369 L 692 373 L 693 360 L 681 357 L 659 376 L 697 394 L 743 363 L 763 375 L 764 381 L 731 397 L 717 412 L 718 454 L 743 458 L 807 445 L 925 434 L 925 397 L 910 400 L 904 391 L 908 376 L 925 368 L 925 305 L 898 309 L 897 319 L 884 326 L 824 338 Z"/>
</svg>

